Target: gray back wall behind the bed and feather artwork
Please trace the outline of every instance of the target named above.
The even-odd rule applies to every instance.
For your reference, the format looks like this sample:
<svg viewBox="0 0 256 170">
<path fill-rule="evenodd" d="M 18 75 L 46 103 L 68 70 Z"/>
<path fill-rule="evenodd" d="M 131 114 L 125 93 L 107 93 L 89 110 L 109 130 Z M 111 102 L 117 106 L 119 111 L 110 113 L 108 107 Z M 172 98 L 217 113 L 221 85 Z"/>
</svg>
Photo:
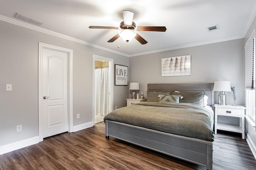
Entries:
<svg viewBox="0 0 256 170">
<path fill-rule="evenodd" d="M 191 76 L 161 76 L 161 59 L 191 55 Z M 244 105 L 244 39 L 200 45 L 160 53 L 130 57 L 130 81 L 146 91 L 148 83 L 196 83 L 230 81 L 236 87 L 236 104 Z M 232 94 L 227 92 L 227 103 Z M 218 92 L 215 92 L 218 103 Z"/>
</svg>

